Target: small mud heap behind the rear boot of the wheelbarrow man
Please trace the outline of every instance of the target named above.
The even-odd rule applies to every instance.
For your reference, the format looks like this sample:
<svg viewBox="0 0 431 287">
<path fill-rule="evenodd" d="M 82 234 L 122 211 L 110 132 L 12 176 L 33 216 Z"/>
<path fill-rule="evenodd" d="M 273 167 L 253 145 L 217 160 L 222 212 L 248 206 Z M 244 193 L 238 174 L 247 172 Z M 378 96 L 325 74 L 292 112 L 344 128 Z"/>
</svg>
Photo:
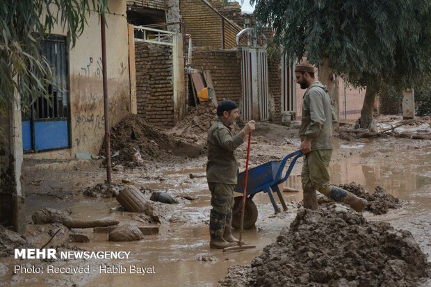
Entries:
<svg viewBox="0 0 431 287">
<path fill-rule="evenodd" d="M 374 193 L 366 192 L 360 184 L 356 184 L 355 182 L 342 184 L 339 187 L 366 199 L 368 204 L 365 206 L 365 210 L 376 215 L 387 213 L 389 209 L 396 209 L 402 206 L 400 199 L 387 194 L 380 186 L 375 187 Z"/>
</svg>

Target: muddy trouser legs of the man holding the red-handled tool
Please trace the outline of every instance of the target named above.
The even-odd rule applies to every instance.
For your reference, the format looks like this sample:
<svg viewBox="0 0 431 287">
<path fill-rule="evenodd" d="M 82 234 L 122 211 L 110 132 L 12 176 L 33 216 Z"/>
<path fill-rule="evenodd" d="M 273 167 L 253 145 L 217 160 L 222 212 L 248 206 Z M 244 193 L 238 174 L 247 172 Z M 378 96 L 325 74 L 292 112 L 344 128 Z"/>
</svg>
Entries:
<svg viewBox="0 0 431 287">
<path fill-rule="evenodd" d="M 208 186 L 213 207 L 209 215 L 209 233 L 211 239 L 216 239 L 223 236 L 227 220 L 231 220 L 235 185 L 209 182 Z"/>
</svg>

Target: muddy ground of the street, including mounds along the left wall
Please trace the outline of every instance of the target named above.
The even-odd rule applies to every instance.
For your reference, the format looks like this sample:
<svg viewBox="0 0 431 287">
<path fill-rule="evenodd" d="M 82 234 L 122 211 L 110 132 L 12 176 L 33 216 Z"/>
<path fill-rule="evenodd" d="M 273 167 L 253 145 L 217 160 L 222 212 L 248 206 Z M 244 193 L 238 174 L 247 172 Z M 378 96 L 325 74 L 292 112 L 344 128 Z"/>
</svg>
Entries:
<svg viewBox="0 0 431 287">
<path fill-rule="evenodd" d="M 193 114 L 192 114 L 193 115 Z M 227 269 L 234 265 L 249 265 L 252 259 L 263 252 L 266 245 L 275 243 L 282 229 L 289 227 L 298 211 L 301 211 L 301 192 L 284 193 L 287 210 L 274 214 L 273 206 L 267 195 L 259 194 L 254 202 L 259 210 L 257 229 L 245 231 L 247 243 L 256 245 L 255 249 L 245 252 L 226 254 L 220 250 L 209 249 L 209 211 L 210 195 L 206 180 L 202 177 L 190 179 L 189 174 L 204 174 L 206 157 L 178 156 L 174 154 L 179 142 L 204 149 L 207 123 L 201 113 L 190 116 L 187 121 L 195 122 L 181 131 L 181 126 L 170 131 L 152 130 L 144 125 L 134 126 L 129 122 L 122 127 L 121 136 L 131 138 L 114 143 L 113 149 L 120 151 L 117 167 L 113 171 L 114 188 L 103 186 L 106 176 L 102 160 L 92 161 L 24 161 L 24 189 L 26 191 L 26 214 L 28 231 L 19 240 L 22 245 L 42 247 L 58 231 L 48 246 L 59 249 L 85 249 L 89 251 L 127 251 L 131 257 L 119 261 L 79 260 L 54 261 L 58 267 L 68 265 L 106 264 L 155 266 L 155 274 L 13 274 L 16 264 L 46 266 L 40 260 L 18 261 L 13 257 L 0 259 L 0 286 L 172 286 L 179 282 L 182 286 L 218 286 L 225 278 Z M 193 120 L 194 119 L 194 120 Z M 382 129 L 387 120 L 396 122 L 400 118 L 382 120 Z M 130 120 L 129 120 L 130 121 Z M 204 124 L 202 124 L 204 123 Z M 161 135 L 152 137 L 151 129 Z M 237 130 L 239 127 L 237 128 Z M 421 126 L 402 126 L 397 129 L 429 129 L 429 123 Z M 282 158 L 300 145 L 298 130 L 288 129 L 269 123 L 258 123 L 252 138 L 250 156 L 251 167 Z M 184 135 L 188 136 L 184 136 Z M 133 135 L 136 138 L 133 140 Z M 168 135 L 165 137 L 164 135 Z M 158 138 L 157 138 L 158 137 Z M 179 141 L 177 141 L 179 138 Z M 143 139 L 145 141 L 143 141 Z M 113 139 L 115 140 L 115 139 Z M 166 141 L 167 140 L 167 141 Z M 133 142 L 133 145 L 127 145 Z M 122 146 L 126 145 L 126 146 Z M 142 147 L 143 162 L 133 160 L 133 147 Z M 153 149 L 147 149 L 152 146 Z M 240 170 L 245 167 L 246 147 L 238 151 Z M 411 140 L 408 138 L 359 138 L 350 141 L 336 139 L 336 147 L 330 165 L 332 183 L 360 184 L 368 196 L 377 186 L 400 200 L 395 206 L 387 206 L 385 213 L 374 214 L 372 208 L 364 213 L 368 222 L 389 223 L 394 229 L 404 229 L 412 233 L 425 260 L 431 261 L 431 141 Z M 295 165 L 291 177 L 281 188 L 289 186 L 301 190 L 300 168 L 302 160 Z M 99 184 L 99 186 L 97 186 Z M 95 188 L 96 186 L 96 188 Z M 122 211 L 115 199 L 116 192 L 124 186 L 133 186 L 150 198 L 153 192 L 168 192 L 178 204 L 161 204 L 161 222 L 151 222 L 139 213 Z M 239 195 L 239 194 L 238 194 Z M 390 201 L 389 201 L 390 202 Z M 390 205 L 390 204 L 389 204 Z M 385 205 L 386 206 L 386 205 Z M 50 207 L 68 211 L 78 220 L 112 218 L 122 224 L 137 227 L 157 226 L 158 234 L 145 235 L 143 240 L 130 243 L 109 242 L 107 233 L 93 233 L 92 229 L 67 229 L 62 224 L 32 223 L 31 215 L 40 208 Z M 395 207 L 395 208 L 393 208 Z M 374 223 L 370 223 L 374 224 Z M 70 233 L 83 233 L 89 243 L 70 243 Z M 234 231 L 238 235 L 238 231 Z M 0 245 L 1 246 L 1 245 Z M 421 281 L 417 286 L 430 286 L 431 281 Z M 347 286 L 347 285 L 346 285 Z M 408 284 L 406 286 L 409 286 Z"/>
</svg>

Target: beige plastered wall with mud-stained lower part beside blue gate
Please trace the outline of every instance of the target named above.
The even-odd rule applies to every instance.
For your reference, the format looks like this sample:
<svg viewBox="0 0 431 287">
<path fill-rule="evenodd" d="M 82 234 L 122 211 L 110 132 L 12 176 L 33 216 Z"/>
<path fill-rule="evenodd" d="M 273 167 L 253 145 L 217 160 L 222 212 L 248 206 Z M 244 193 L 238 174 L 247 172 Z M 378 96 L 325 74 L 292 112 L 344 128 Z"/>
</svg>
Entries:
<svg viewBox="0 0 431 287">
<path fill-rule="evenodd" d="M 108 1 L 106 15 L 106 66 L 111 126 L 130 113 L 129 40 L 126 0 Z M 115 15 L 113 15 L 115 13 Z M 68 51 L 70 86 L 70 149 L 26 154 L 26 158 L 75 158 L 76 153 L 97 155 L 104 139 L 104 92 L 101 63 L 99 15 L 88 25 Z M 60 27 L 51 32 L 65 35 Z"/>
</svg>

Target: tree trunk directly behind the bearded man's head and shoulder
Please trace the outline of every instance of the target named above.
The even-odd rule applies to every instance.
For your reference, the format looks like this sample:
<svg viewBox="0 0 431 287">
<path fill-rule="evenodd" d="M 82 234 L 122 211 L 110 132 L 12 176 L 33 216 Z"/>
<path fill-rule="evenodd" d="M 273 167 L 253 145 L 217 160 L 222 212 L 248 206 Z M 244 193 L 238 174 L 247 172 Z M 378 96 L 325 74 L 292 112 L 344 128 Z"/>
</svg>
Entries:
<svg viewBox="0 0 431 287">
<path fill-rule="evenodd" d="M 338 92 L 338 81 L 336 81 L 334 73 L 330 67 L 330 60 L 328 58 L 323 58 L 322 65 L 318 67 L 319 80 L 323 85 L 327 86 L 328 94 L 331 98 L 331 105 L 334 108 L 336 114 L 336 122 L 334 124 L 334 130 L 339 131 L 339 92 Z"/>
</svg>

